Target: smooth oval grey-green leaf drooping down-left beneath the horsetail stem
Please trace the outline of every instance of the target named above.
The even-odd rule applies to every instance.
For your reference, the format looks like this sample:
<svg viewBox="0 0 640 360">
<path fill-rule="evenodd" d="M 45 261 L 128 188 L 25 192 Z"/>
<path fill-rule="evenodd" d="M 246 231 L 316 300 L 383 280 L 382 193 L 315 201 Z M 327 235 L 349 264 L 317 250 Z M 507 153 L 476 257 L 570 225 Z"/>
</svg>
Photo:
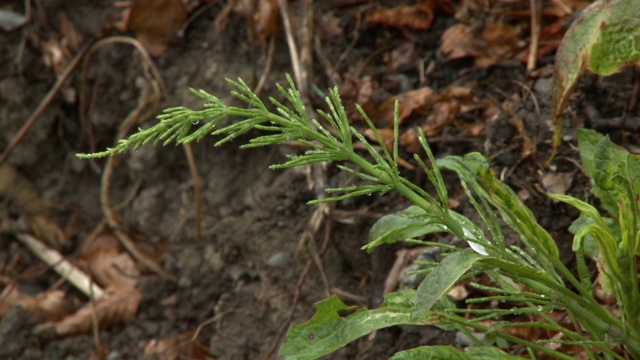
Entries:
<svg viewBox="0 0 640 360">
<path fill-rule="evenodd" d="M 418 286 L 416 306 L 411 313 L 411 318 L 418 319 L 428 314 L 438 299 L 444 296 L 460 277 L 482 258 L 482 255 L 467 250 L 445 257 Z"/>
</svg>

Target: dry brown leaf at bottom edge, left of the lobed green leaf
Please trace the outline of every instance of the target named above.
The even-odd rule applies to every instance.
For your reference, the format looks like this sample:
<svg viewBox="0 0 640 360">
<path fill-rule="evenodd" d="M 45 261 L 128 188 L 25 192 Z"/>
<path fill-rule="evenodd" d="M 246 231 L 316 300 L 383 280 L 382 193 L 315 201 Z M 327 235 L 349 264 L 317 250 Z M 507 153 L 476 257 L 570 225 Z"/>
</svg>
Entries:
<svg viewBox="0 0 640 360">
<path fill-rule="evenodd" d="M 200 338 L 192 341 L 192 337 L 193 332 L 188 331 L 164 339 L 152 339 L 144 347 L 144 356 L 158 360 L 212 359 L 209 349 Z"/>
</svg>

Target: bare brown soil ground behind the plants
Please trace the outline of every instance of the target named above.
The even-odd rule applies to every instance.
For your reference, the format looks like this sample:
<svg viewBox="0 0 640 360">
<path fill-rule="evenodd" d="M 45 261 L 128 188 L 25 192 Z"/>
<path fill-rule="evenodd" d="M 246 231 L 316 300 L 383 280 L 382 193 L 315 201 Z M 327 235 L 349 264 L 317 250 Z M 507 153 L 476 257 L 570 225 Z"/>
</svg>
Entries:
<svg viewBox="0 0 640 360">
<path fill-rule="evenodd" d="M 364 2 L 363 2 L 364 3 Z M 3 4 L 4 6 L 4 4 Z M 9 1 L 8 8 L 24 12 L 22 1 Z M 42 44 L 60 29 L 66 15 L 85 40 L 101 33 L 109 17 L 120 10 L 111 2 L 41 1 L 42 12 L 26 27 L 0 32 L 0 149 L 6 149 L 26 119 L 54 85 L 56 77 L 43 61 Z M 168 96 L 160 109 L 184 105 L 201 107 L 188 87 L 205 89 L 233 101 L 225 77 L 257 82 L 266 58 L 260 41 L 248 35 L 246 19 L 231 14 L 227 26 L 219 30 L 213 22 L 222 5 L 203 11 L 189 26 L 183 39 L 154 59 Z M 345 27 L 353 30 L 354 8 L 341 9 L 336 15 Z M 46 23 L 44 20 L 46 19 Z M 550 132 L 550 64 L 552 54 L 539 62 L 536 77 L 526 77 L 524 64 L 509 62 L 474 68 L 468 59 L 442 61 L 438 56 L 438 39 L 453 22 L 439 17 L 428 31 L 401 31 L 376 28 L 363 32 L 351 42 L 348 34 L 325 41 L 322 46 L 328 59 L 351 51 L 349 60 L 336 69 L 340 74 L 354 74 L 359 66 L 364 74 L 384 80 L 406 82 L 405 88 L 418 87 L 415 68 L 387 76 L 382 61 L 384 49 L 407 41 L 418 44 L 416 57 L 433 59 L 430 86 L 445 88 L 450 84 L 474 82 L 478 97 L 502 102 L 513 101 L 515 114 L 522 119 L 532 139 L 535 153 L 520 160 L 522 136 L 513 116 L 497 114 L 478 134 L 470 135 L 464 126 L 449 126 L 435 137 L 436 156 L 462 155 L 480 151 L 492 159 L 494 170 L 519 194 L 538 219 L 555 236 L 564 250 L 570 249 L 571 235 L 566 229 L 577 213 L 552 204 L 544 196 L 545 185 L 563 181 L 564 191 L 578 197 L 588 196 L 588 180 L 580 172 L 579 156 L 572 140 L 574 129 L 581 126 L 610 133 L 614 141 L 633 148 L 638 135 L 616 128 L 609 121 L 626 114 L 628 94 L 634 87 L 634 73 L 581 82 L 572 100 L 566 124 L 566 141 L 553 163 L 543 167 L 549 156 Z M 351 44 L 353 48 L 347 50 Z M 274 81 L 283 82 L 291 72 L 289 52 L 282 35 L 276 41 L 273 68 L 265 95 L 275 94 Z M 382 49 L 382 50 L 381 50 Z M 368 60 L 367 60 L 368 59 Z M 320 63 L 320 62 L 319 62 Z M 75 154 L 90 150 L 86 127 L 79 112 L 79 92 L 87 92 L 88 119 L 92 124 L 97 149 L 114 143 L 120 123 L 141 101 L 148 87 L 145 69 L 129 45 L 112 44 L 98 50 L 88 62 L 88 82 L 82 84 L 80 67 L 63 90 L 44 110 L 37 123 L 11 153 L 7 162 L 18 169 L 39 190 L 43 199 L 58 204 L 49 213 L 67 234 L 69 243 L 63 254 L 74 261 L 86 237 L 104 220 L 100 200 L 100 171 L 106 160 L 80 160 Z M 320 89 L 332 85 L 322 66 L 313 83 Z M 340 84 L 339 84 L 340 85 Z M 396 86 L 398 90 L 400 85 Z M 389 87 L 391 89 L 392 87 Z M 533 89 L 533 95 L 527 94 Z M 386 90 L 385 90 L 386 91 Z M 75 95 L 74 95 L 75 92 Z M 389 91 L 391 92 L 391 91 Z M 515 95 L 513 95 L 515 94 Z M 625 95 L 627 94 L 627 95 Z M 513 95 L 513 96 L 512 96 Z M 598 109 L 593 116 L 587 109 Z M 458 119 L 473 123 L 467 114 Z M 327 296 L 326 286 L 317 267 L 311 266 L 304 283 L 298 287 L 309 257 L 298 254 L 298 245 L 313 207 L 307 177 L 300 169 L 272 171 L 271 163 L 284 159 L 291 148 L 238 150 L 242 139 L 214 148 L 214 139 L 193 144 L 193 153 L 201 179 L 201 238 L 196 239 L 194 180 L 185 151 L 180 147 L 145 146 L 138 152 L 120 157 L 111 183 L 111 202 L 125 202 L 119 210 L 120 223 L 128 230 L 146 234 L 161 250 L 160 264 L 176 277 L 166 280 L 146 271 L 138 281 L 142 300 L 134 316 L 98 333 L 74 336 L 42 336 L 33 332 L 39 320 L 19 306 L 5 309 L 0 319 L 0 358 L 3 359 L 87 359 L 99 358 L 98 348 L 106 359 L 141 358 L 154 339 L 193 334 L 199 325 L 198 341 L 215 359 L 275 358 L 283 326 L 289 320 L 294 297 L 299 302 L 292 322 L 301 323 L 313 315 L 313 304 Z M 407 155 L 406 153 L 404 155 Z M 407 155 L 406 158 L 410 158 Z M 544 182 L 549 173 L 570 174 Z M 406 170 L 417 182 L 425 182 L 417 170 Z M 569 180 L 567 180 L 569 179 Z M 0 179 L 0 185 L 2 184 Z M 330 176 L 333 185 L 355 181 L 345 175 Z M 554 182 L 555 181 L 555 182 Z M 567 183 L 568 181 L 568 183 Z M 453 199 L 463 200 L 462 189 L 452 176 Z M 16 205 L 14 188 L 0 188 L 3 224 L 18 221 L 25 212 Z M 400 210 L 408 204 L 399 196 L 364 197 L 336 205 L 340 215 L 316 233 L 319 247 L 325 236 L 329 246 L 322 261 L 329 291 L 344 301 L 366 306 L 375 302 L 380 279 L 390 268 L 395 249 L 384 249 L 373 258 L 360 247 L 366 243 L 368 230 L 381 215 Z M 458 211 L 469 213 L 461 202 Z M 349 221 L 339 221 L 349 220 Z M 52 288 L 64 291 L 71 307 L 80 308 L 87 298 L 51 271 L 16 238 L 16 232 L 3 226 L 0 235 L 0 269 L 2 286 L 18 283 L 25 293 L 38 294 Z M 447 239 L 444 239 L 447 240 Z M 449 239 L 450 240 L 450 239 Z M 450 240 L 454 241 L 454 240 Z M 569 258 L 568 258 L 569 259 Z M 567 261 L 571 261 L 570 259 Z M 299 294 L 296 295 L 296 289 Z M 205 324 L 205 322 L 207 322 Z M 416 345 L 455 343 L 455 334 L 434 328 L 402 327 L 388 329 L 375 339 L 363 339 L 332 355 L 335 359 L 382 359 L 394 352 Z M 101 344 L 99 347 L 97 344 Z M 183 353 L 181 358 L 204 358 Z"/>
</svg>

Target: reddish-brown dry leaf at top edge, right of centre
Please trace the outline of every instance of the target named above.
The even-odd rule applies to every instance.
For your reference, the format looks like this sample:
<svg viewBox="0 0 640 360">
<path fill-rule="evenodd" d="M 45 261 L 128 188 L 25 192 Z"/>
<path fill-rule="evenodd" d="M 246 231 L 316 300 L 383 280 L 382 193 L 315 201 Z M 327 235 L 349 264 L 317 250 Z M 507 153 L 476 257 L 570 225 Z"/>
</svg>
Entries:
<svg viewBox="0 0 640 360">
<path fill-rule="evenodd" d="M 376 8 L 367 14 L 367 26 L 386 26 L 413 30 L 428 30 L 433 23 L 433 1 L 393 8 Z"/>
</svg>

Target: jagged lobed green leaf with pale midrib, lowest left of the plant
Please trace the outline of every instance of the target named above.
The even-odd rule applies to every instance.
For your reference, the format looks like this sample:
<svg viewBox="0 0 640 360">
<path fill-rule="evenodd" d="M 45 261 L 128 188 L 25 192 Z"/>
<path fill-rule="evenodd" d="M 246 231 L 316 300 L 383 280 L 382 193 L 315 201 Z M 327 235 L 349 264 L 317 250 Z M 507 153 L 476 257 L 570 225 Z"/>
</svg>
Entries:
<svg viewBox="0 0 640 360">
<path fill-rule="evenodd" d="M 316 314 L 308 322 L 292 325 L 280 347 L 279 359 L 306 360 L 321 356 L 369 334 L 373 330 L 394 325 L 434 325 L 441 318 L 425 313 L 410 317 L 415 290 L 402 290 L 385 296 L 377 309 L 356 309 L 347 306 L 336 296 L 316 304 Z M 349 314 L 349 312 L 353 312 Z"/>
</svg>

